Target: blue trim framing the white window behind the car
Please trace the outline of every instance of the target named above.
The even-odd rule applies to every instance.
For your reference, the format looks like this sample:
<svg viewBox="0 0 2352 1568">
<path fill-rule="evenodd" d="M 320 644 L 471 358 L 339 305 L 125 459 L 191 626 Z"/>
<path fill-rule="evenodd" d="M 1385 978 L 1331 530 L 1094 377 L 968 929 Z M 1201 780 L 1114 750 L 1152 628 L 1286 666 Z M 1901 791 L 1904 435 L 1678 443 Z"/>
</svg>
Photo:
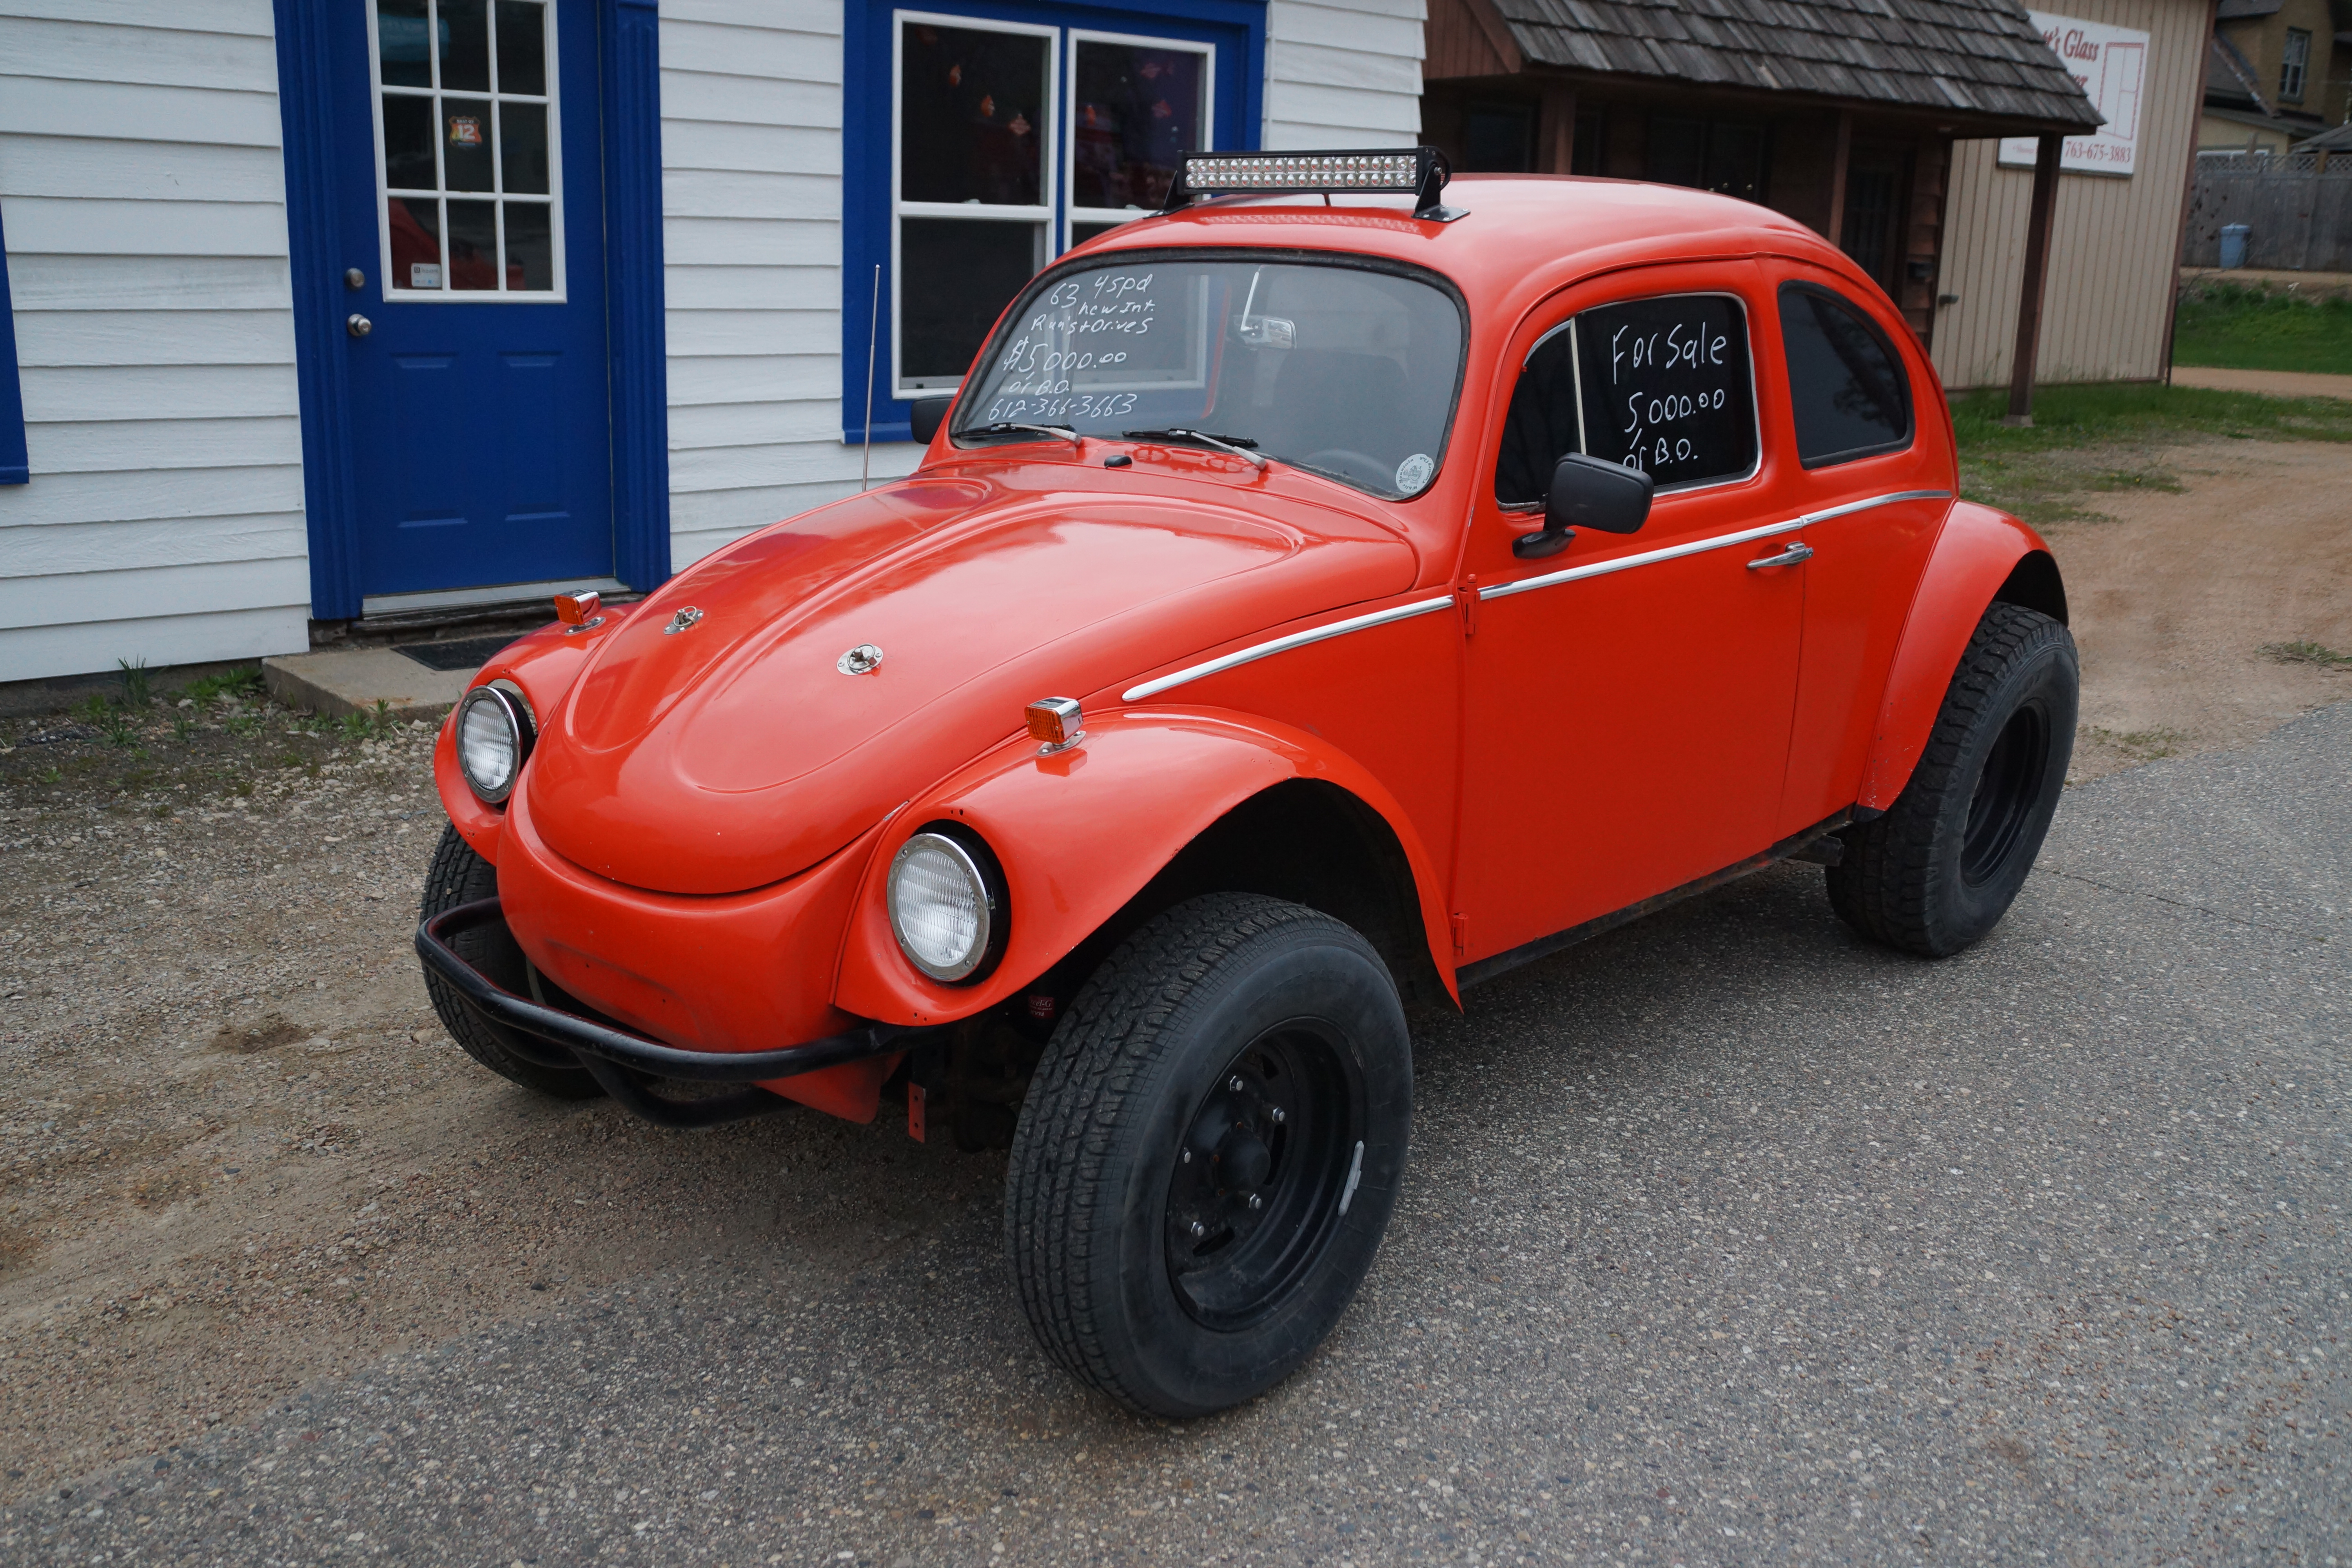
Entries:
<svg viewBox="0 0 2352 1568">
<path fill-rule="evenodd" d="M 934 12 L 976 21 L 1028 21 L 1110 33 L 1214 38 L 1218 45 L 1218 146 L 1256 148 L 1265 125 L 1265 0 L 847 0 L 842 35 L 842 442 L 866 444 L 866 362 L 875 350 L 875 444 L 913 440 L 910 409 L 889 395 L 889 310 L 873 334 L 875 268 L 889 303 L 891 223 L 891 14 Z M 1225 59 L 1232 38 L 1247 42 Z M 1068 40 L 1061 42 L 1068 47 Z M 1065 66 L 1068 68 L 1068 66 Z M 1058 108 L 1058 106 L 1056 106 Z M 1054 148 L 1058 158 L 1061 150 Z M 1061 205 L 1070 193 L 1061 190 Z M 1061 233 L 1056 212 L 1054 233 Z M 873 339 L 880 336 L 880 343 Z"/>
</svg>

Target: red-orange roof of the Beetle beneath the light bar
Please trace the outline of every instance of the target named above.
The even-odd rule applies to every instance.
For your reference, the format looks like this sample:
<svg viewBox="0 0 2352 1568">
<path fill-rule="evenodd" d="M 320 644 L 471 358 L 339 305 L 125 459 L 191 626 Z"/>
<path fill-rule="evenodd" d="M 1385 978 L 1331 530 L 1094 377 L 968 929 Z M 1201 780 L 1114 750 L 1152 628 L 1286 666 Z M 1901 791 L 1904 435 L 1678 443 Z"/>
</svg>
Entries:
<svg viewBox="0 0 2352 1568">
<path fill-rule="evenodd" d="M 1075 256 L 1169 244 L 1247 244 L 1385 256 L 1444 273 L 1472 306 L 1501 301 L 1534 277 L 1656 261 L 1778 254 L 1853 273 L 1804 223 L 1769 207 L 1684 186 L 1569 174 L 1463 174 L 1444 190 L 1465 216 L 1414 219 L 1397 205 L 1343 205 L 1362 197 L 1223 197 L 1183 212 L 1122 223 Z"/>
</svg>

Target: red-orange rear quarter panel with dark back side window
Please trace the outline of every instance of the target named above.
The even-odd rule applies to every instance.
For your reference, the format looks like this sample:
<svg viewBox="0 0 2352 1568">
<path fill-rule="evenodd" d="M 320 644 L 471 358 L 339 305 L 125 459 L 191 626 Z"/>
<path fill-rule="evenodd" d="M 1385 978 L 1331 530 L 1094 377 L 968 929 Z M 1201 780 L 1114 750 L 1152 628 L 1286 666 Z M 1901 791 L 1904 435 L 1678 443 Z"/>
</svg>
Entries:
<svg viewBox="0 0 2352 1568">
<path fill-rule="evenodd" d="M 1804 658 L 1776 837 L 1853 804 L 1877 733 L 1903 618 L 1952 508 L 1955 456 L 1933 369 L 1867 294 L 1802 263 L 1773 273 L 1773 360 L 1785 367 L 1785 440 L 1802 475 L 1813 557 Z M 1905 341 L 1910 339 L 1910 341 Z"/>
</svg>

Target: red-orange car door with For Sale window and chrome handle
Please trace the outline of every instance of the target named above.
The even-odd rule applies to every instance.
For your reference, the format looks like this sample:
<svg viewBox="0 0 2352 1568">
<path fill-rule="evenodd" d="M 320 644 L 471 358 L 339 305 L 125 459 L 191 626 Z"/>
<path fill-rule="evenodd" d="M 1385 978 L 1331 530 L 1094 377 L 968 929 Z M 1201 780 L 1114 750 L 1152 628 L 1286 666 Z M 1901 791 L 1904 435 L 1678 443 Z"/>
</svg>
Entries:
<svg viewBox="0 0 2352 1568">
<path fill-rule="evenodd" d="M 1465 550 L 1454 907 L 1470 964 L 1773 842 L 1804 564 L 1788 463 L 1759 437 L 1750 343 L 1769 299 L 1752 263 L 1649 268 L 1512 336 Z M 1649 522 L 1519 559 L 1564 451 L 1649 470 Z"/>
</svg>

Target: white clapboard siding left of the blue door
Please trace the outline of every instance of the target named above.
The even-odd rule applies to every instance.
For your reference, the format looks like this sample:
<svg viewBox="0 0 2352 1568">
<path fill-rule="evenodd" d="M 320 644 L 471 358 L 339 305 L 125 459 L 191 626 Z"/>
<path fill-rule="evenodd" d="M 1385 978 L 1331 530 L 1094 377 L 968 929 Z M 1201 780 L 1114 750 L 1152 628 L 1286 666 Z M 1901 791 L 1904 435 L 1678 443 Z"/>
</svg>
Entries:
<svg viewBox="0 0 2352 1568">
<path fill-rule="evenodd" d="M 0 0 L 0 679 L 308 646 L 270 0 Z"/>
</svg>

